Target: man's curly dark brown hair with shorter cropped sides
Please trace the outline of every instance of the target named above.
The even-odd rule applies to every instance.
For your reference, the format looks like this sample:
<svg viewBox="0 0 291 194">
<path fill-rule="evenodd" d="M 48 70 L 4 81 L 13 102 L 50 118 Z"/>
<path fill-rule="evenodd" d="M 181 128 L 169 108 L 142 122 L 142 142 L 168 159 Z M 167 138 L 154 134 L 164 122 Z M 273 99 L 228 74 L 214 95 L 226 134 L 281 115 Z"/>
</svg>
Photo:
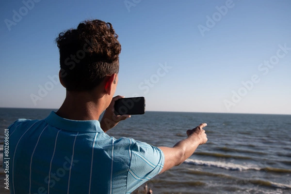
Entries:
<svg viewBox="0 0 291 194">
<path fill-rule="evenodd" d="M 56 38 L 61 79 L 68 91 L 88 91 L 119 71 L 121 45 L 111 23 L 86 20 Z"/>
</svg>

